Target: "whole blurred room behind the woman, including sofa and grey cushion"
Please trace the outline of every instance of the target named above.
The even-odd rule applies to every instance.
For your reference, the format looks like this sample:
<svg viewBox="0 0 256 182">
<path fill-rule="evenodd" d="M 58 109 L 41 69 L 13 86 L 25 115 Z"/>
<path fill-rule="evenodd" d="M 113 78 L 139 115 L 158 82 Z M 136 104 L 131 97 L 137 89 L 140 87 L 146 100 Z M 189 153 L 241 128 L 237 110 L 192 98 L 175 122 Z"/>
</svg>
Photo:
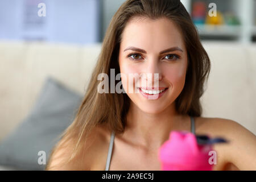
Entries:
<svg viewBox="0 0 256 182">
<path fill-rule="evenodd" d="M 123 2 L 0 1 L 0 170 L 44 169 Z M 202 117 L 233 119 L 256 134 L 256 0 L 181 2 L 212 63 Z"/>
</svg>

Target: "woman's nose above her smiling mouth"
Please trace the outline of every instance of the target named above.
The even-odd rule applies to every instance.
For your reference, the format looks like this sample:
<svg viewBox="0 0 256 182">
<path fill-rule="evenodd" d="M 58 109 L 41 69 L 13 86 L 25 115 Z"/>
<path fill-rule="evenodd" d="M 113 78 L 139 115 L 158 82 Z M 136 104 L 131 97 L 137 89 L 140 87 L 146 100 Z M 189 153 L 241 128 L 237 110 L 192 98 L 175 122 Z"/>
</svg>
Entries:
<svg viewBox="0 0 256 182">
<path fill-rule="evenodd" d="M 144 80 L 147 81 L 147 84 L 158 84 L 159 81 L 163 79 L 162 70 L 160 68 L 160 63 L 158 60 L 148 60 L 144 68 Z M 158 85 L 155 85 L 158 86 Z"/>
</svg>

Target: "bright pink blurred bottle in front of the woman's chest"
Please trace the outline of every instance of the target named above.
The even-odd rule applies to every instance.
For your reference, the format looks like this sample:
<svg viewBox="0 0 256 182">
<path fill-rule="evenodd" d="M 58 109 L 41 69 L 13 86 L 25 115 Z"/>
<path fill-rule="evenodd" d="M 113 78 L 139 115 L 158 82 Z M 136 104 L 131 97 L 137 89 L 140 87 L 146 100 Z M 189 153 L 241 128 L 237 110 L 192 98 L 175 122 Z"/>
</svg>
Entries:
<svg viewBox="0 0 256 182">
<path fill-rule="evenodd" d="M 209 144 L 200 145 L 196 136 L 186 131 L 172 131 L 170 138 L 159 148 L 163 171 L 212 171 L 209 164 Z"/>
</svg>

